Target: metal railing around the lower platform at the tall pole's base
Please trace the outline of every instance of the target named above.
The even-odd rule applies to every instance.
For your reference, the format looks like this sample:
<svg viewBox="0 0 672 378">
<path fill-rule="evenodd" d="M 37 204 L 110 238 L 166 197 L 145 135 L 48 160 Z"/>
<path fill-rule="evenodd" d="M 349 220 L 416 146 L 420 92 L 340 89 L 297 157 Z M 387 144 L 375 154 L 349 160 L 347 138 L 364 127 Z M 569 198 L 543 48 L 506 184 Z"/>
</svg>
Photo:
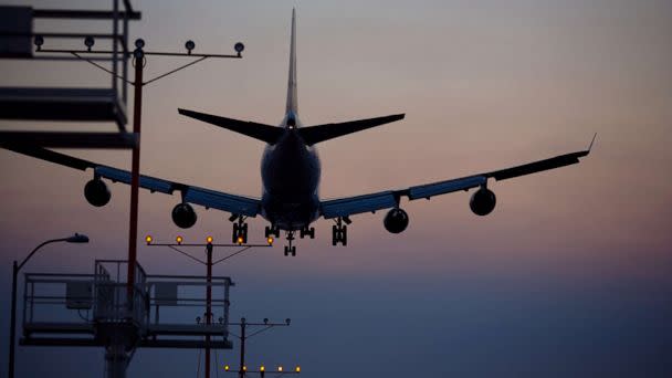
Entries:
<svg viewBox="0 0 672 378">
<path fill-rule="evenodd" d="M 126 261 L 98 260 L 94 274 L 25 273 L 23 334 L 88 334 L 113 323 L 133 323 L 141 337 L 229 336 L 231 279 L 147 275 L 136 265 L 129 292 Z M 210 287 L 212 324 L 206 324 Z M 133 297 L 129 297 L 132 294 Z M 202 319 L 202 321 L 201 321 Z"/>
</svg>

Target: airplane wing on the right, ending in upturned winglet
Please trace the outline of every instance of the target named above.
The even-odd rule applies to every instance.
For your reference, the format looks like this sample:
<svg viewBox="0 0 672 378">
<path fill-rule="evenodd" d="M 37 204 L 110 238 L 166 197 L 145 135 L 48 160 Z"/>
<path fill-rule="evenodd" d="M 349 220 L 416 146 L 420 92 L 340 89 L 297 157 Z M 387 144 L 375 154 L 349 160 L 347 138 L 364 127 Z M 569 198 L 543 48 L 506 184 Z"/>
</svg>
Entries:
<svg viewBox="0 0 672 378">
<path fill-rule="evenodd" d="M 548 159 L 533 161 L 506 169 L 445 181 L 424 183 L 406 189 L 387 190 L 377 193 L 323 201 L 321 203 L 322 216 L 325 219 L 332 219 L 396 208 L 399 206 L 399 200 L 401 197 L 407 197 L 411 201 L 421 198 L 430 199 L 434 196 L 451 193 L 460 190 L 469 190 L 471 188 L 483 186 L 489 178 L 494 178 L 495 180 L 500 181 L 518 176 L 569 166 L 579 162 L 579 158 L 588 156 L 594 143 L 595 136 L 592 137 L 592 141 L 590 141 L 590 146 L 586 150 L 559 155 Z"/>
</svg>

